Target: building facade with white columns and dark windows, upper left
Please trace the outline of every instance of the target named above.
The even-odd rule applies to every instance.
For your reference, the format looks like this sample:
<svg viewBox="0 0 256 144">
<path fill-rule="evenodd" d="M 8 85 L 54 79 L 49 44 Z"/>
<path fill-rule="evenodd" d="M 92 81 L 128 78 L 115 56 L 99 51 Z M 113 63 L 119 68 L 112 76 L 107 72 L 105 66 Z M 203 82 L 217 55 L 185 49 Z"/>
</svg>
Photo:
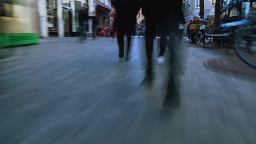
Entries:
<svg viewBox="0 0 256 144">
<path fill-rule="evenodd" d="M 98 26 L 106 28 L 111 23 L 110 0 L 38 0 L 40 36 L 78 36 L 78 11 L 85 7 L 89 16 L 95 12 Z M 89 32 L 92 21 L 89 20 Z"/>
</svg>

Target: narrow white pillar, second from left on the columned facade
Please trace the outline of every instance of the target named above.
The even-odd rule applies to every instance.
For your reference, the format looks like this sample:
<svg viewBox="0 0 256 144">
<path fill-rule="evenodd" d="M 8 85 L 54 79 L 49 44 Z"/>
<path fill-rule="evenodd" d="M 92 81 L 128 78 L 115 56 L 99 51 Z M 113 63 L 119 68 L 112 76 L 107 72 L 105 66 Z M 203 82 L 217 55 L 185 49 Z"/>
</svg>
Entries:
<svg viewBox="0 0 256 144">
<path fill-rule="evenodd" d="M 57 16 L 58 16 L 58 31 L 59 36 L 65 36 L 64 32 L 64 20 L 63 20 L 62 0 L 57 1 Z"/>
</svg>

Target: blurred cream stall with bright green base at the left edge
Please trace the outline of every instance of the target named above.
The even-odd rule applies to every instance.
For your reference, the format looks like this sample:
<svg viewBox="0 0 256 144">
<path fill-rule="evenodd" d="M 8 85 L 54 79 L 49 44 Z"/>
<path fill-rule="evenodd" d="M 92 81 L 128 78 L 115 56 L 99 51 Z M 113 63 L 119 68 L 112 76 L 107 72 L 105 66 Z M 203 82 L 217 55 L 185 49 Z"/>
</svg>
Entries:
<svg viewBox="0 0 256 144">
<path fill-rule="evenodd" d="M 0 47 L 39 43 L 37 1 L 0 1 Z"/>
</svg>

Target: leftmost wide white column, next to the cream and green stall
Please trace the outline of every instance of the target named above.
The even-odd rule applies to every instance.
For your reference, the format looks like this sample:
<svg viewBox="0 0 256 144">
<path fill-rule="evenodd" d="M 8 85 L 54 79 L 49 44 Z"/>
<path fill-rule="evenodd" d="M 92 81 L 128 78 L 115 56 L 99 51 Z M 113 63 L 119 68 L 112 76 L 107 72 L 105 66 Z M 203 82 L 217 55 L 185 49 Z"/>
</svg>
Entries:
<svg viewBox="0 0 256 144">
<path fill-rule="evenodd" d="M 46 0 L 38 0 L 40 36 L 48 37 Z"/>
</svg>

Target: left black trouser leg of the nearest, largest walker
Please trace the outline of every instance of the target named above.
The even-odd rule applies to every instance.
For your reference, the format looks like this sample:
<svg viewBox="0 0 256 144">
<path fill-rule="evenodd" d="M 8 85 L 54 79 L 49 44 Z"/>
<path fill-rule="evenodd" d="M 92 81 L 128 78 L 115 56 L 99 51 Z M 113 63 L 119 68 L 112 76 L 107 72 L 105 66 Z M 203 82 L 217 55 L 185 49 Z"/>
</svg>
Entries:
<svg viewBox="0 0 256 144">
<path fill-rule="evenodd" d="M 146 44 L 146 53 L 148 58 L 148 69 L 152 67 L 152 53 L 153 53 L 153 44 L 154 36 L 156 33 L 157 22 L 155 20 L 146 20 L 146 33 L 145 33 L 145 44 Z"/>
</svg>

